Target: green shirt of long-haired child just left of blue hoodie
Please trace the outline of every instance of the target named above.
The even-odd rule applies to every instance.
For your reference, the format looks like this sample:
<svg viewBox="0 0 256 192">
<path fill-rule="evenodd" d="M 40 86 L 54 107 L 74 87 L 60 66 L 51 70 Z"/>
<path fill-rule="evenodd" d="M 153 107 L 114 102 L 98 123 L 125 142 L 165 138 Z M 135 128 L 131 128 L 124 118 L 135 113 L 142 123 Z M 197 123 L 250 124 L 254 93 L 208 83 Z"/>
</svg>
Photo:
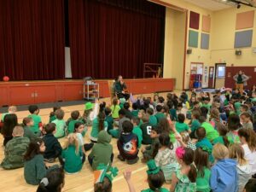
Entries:
<svg viewBox="0 0 256 192">
<path fill-rule="evenodd" d="M 196 177 L 196 190 L 201 192 L 209 192 L 210 188 L 210 177 L 211 171 L 208 168 L 204 168 L 204 177 L 201 177 L 201 174 L 197 172 Z"/>
</svg>

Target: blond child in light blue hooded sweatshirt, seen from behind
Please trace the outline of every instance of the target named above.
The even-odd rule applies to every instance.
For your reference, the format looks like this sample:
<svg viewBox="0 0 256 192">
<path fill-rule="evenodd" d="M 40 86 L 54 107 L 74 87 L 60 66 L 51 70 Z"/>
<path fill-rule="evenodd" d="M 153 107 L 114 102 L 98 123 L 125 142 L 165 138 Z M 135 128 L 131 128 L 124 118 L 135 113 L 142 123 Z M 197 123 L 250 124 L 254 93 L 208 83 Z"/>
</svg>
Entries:
<svg viewBox="0 0 256 192">
<path fill-rule="evenodd" d="M 238 189 L 238 175 L 236 171 L 236 160 L 229 158 L 229 149 L 223 144 L 214 145 L 212 155 L 217 163 L 212 166 L 210 186 L 212 192 L 229 191 L 236 192 Z"/>
</svg>

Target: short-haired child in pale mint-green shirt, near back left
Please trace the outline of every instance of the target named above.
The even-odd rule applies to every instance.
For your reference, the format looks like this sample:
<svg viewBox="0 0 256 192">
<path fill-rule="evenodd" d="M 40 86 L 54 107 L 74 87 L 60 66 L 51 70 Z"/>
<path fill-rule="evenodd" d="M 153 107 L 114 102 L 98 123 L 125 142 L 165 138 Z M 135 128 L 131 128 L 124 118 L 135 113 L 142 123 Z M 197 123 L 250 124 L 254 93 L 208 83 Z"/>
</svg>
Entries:
<svg viewBox="0 0 256 192">
<path fill-rule="evenodd" d="M 55 137 L 56 138 L 61 138 L 65 136 L 65 127 L 66 127 L 66 122 L 63 119 L 64 118 L 64 111 L 62 109 L 57 109 L 55 111 L 55 116 L 56 119 L 52 121 L 56 125 L 56 132 L 55 132 Z"/>
</svg>

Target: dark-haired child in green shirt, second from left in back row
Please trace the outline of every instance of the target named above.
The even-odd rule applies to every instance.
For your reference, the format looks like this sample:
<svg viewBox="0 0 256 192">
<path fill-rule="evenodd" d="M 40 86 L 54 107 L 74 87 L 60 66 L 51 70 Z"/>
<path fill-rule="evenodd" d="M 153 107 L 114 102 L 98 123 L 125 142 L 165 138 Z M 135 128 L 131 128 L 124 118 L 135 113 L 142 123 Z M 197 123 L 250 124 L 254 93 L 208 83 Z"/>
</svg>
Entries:
<svg viewBox="0 0 256 192">
<path fill-rule="evenodd" d="M 33 119 L 34 125 L 32 125 L 32 131 L 37 134 L 38 132 L 40 132 L 40 127 L 42 127 L 42 120 L 41 117 L 38 115 L 39 113 L 39 108 L 36 105 L 31 105 L 28 107 L 28 111 L 29 113 L 31 113 L 30 115 L 28 115 L 28 117 Z"/>
</svg>

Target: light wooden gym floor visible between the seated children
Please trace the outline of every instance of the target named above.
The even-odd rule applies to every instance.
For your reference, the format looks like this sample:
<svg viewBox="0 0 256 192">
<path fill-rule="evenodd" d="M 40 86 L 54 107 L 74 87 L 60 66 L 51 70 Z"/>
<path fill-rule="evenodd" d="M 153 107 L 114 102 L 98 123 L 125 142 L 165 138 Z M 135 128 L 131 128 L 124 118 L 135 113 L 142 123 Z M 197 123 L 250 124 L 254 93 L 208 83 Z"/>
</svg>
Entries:
<svg viewBox="0 0 256 192">
<path fill-rule="evenodd" d="M 160 94 L 162 96 L 166 96 L 166 94 Z M 152 96 L 143 95 L 143 96 Z M 109 98 L 102 99 L 100 101 L 104 101 L 110 103 Z M 68 119 L 70 117 L 70 113 L 73 110 L 79 110 L 81 114 L 84 112 L 84 105 L 74 105 L 68 107 L 62 107 L 65 111 L 64 119 Z M 42 117 L 43 123 L 49 122 L 49 113 L 52 111 L 52 108 L 44 108 L 40 110 L 39 115 Z M 19 111 L 17 112 L 19 123 L 21 123 L 22 119 L 28 115 L 28 111 Z M 90 129 L 86 133 L 84 137 L 84 141 L 89 143 Z M 65 139 L 62 138 L 59 140 L 61 145 L 63 145 Z M 117 159 L 117 155 L 119 154 L 118 148 L 116 146 L 116 139 L 112 139 L 113 144 L 113 166 L 117 166 L 119 168 L 119 174 L 113 180 L 113 192 L 128 192 L 128 186 L 125 182 L 125 178 L 123 177 L 123 172 L 126 169 L 130 169 L 132 171 L 132 181 L 135 184 L 137 191 L 141 191 L 142 189 L 148 189 L 147 179 L 147 165 L 143 164 L 140 160 L 135 165 L 127 165 L 125 162 L 121 162 Z M 3 160 L 4 157 L 4 148 L 3 148 L 3 136 L 0 136 L 0 160 Z M 90 151 L 86 153 L 86 158 L 90 154 Z M 141 152 L 139 153 L 139 157 L 142 157 Z M 15 169 L 15 170 L 3 170 L 0 167 L 0 191 L 9 191 L 9 192 L 32 192 L 36 191 L 37 186 L 29 185 L 25 182 L 23 177 L 23 168 Z M 94 185 L 94 176 L 93 172 L 90 168 L 88 160 L 84 162 L 83 169 L 81 172 L 74 175 L 67 175 L 65 177 L 65 186 L 62 191 L 68 192 L 90 192 L 93 191 Z M 167 189 L 169 189 L 170 185 L 165 185 Z"/>
</svg>

